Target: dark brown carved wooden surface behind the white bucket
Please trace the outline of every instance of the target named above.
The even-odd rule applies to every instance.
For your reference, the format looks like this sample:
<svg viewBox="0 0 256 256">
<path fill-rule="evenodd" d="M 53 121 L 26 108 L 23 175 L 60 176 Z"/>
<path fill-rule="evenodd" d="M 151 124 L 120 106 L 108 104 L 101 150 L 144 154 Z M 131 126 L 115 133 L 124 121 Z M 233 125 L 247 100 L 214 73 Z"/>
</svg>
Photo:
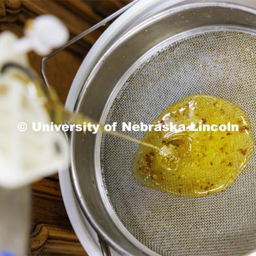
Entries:
<svg viewBox="0 0 256 256">
<path fill-rule="evenodd" d="M 54 14 L 74 37 L 130 1 L 0 0 L 0 29 L 23 34 L 23 25 L 41 14 Z M 107 27 L 107 26 L 106 26 Z M 94 31 L 46 62 L 51 85 L 65 102 L 76 71 L 92 44 L 106 28 Z M 31 66 L 39 73 L 41 58 L 29 54 Z M 70 65 L 71 63 L 71 65 Z M 30 251 L 32 255 L 87 255 L 69 222 L 62 201 L 58 175 L 33 184 Z"/>
</svg>

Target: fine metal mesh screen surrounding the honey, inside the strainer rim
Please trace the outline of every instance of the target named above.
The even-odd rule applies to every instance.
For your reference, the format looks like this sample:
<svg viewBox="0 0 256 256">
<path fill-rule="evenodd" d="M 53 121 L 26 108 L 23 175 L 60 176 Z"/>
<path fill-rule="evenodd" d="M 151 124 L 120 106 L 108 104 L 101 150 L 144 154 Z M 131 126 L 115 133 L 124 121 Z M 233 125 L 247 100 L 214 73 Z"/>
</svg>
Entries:
<svg viewBox="0 0 256 256">
<path fill-rule="evenodd" d="M 150 124 L 167 106 L 194 93 L 241 107 L 256 134 L 256 37 L 235 31 L 191 36 L 164 47 L 134 71 L 111 106 L 107 123 Z M 127 132 L 142 139 L 143 132 Z M 139 145 L 103 135 L 101 169 L 119 221 L 163 255 L 241 255 L 256 249 L 255 149 L 236 181 L 205 197 L 177 197 L 134 180 Z"/>
</svg>

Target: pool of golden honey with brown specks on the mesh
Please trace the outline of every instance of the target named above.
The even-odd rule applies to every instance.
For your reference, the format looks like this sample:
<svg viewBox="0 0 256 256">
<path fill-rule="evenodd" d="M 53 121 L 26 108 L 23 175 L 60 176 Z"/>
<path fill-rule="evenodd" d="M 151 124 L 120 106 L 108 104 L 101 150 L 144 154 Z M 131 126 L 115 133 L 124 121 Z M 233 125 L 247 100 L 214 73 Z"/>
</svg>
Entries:
<svg viewBox="0 0 256 256">
<path fill-rule="evenodd" d="M 135 179 L 179 196 L 204 196 L 227 188 L 244 169 L 254 141 L 241 108 L 222 98 L 194 94 L 175 102 L 153 124 L 237 124 L 238 131 L 148 131 L 134 157 Z"/>
</svg>

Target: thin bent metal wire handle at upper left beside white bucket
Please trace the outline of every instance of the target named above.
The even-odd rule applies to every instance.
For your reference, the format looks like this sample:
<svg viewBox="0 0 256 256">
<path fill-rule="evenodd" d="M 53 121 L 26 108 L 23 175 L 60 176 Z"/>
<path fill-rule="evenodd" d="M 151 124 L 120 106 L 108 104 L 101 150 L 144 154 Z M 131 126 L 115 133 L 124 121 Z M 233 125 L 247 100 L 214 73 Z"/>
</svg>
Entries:
<svg viewBox="0 0 256 256">
<path fill-rule="evenodd" d="M 140 0 L 134 0 L 131 3 L 125 5 L 123 8 L 119 9 L 118 11 L 114 12 L 113 14 L 109 15 L 106 19 L 103 19 L 102 21 L 100 21 L 99 23 L 95 24 L 94 26 L 92 26 L 89 29 L 86 29 L 85 31 L 83 31 L 81 34 L 75 36 L 74 38 L 72 38 L 70 41 L 68 41 L 66 44 L 62 45 L 59 49 L 54 50 L 53 52 L 51 52 L 49 55 L 46 55 L 45 57 L 42 58 L 41 60 L 41 75 L 43 77 L 43 80 L 46 84 L 47 87 L 50 88 L 50 84 L 48 82 L 48 79 L 46 77 L 45 74 L 45 61 L 47 59 L 50 59 L 51 57 L 53 57 L 55 54 L 59 53 L 60 51 L 66 49 L 68 46 L 70 46 L 71 44 L 74 44 L 75 42 L 77 42 L 78 40 L 80 40 L 81 38 L 83 38 L 84 36 L 90 34 L 92 31 L 98 29 L 101 26 L 104 26 L 107 22 L 115 19 L 116 17 L 118 17 L 119 15 L 121 15 L 123 12 L 125 12 L 126 10 L 128 10 L 132 5 L 134 5 L 135 3 L 139 2 Z"/>
</svg>

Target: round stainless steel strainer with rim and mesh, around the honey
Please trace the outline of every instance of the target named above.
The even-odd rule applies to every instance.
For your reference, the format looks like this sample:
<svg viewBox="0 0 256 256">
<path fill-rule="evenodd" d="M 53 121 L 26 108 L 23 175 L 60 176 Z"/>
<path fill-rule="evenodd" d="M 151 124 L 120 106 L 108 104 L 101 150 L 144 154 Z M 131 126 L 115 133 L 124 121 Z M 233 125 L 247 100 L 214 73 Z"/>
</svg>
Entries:
<svg viewBox="0 0 256 256">
<path fill-rule="evenodd" d="M 207 93 L 241 107 L 255 139 L 255 28 L 256 12 L 244 6 L 194 3 L 165 10 L 106 45 L 76 110 L 101 123 L 150 124 L 173 102 Z M 256 249 L 255 149 L 226 190 L 177 197 L 134 180 L 139 146 L 130 141 L 73 133 L 71 146 L 71 177 L 81 208 L 118 252 L 242 255 Z"/>
</svg>

